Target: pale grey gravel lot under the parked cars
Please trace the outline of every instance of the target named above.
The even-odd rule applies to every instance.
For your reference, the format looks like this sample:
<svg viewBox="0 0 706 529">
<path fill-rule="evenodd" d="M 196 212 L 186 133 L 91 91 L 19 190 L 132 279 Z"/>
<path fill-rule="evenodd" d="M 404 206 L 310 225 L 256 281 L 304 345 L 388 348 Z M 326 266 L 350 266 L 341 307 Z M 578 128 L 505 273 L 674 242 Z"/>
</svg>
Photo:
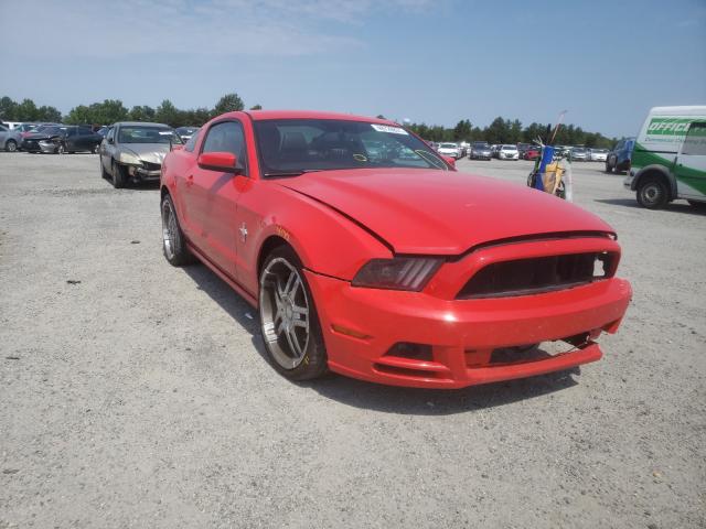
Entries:
<svg viewBox="0 0 706 529">
<path fill-rule="evenodd" d="M 0 153 L 0 528 L 706 526 L 706 216 L 575 168 L 634 289 L 606 357 L 439 392 L 287 381 L 244 301 L 165 262 L 156 187 Z"/>
</svg>

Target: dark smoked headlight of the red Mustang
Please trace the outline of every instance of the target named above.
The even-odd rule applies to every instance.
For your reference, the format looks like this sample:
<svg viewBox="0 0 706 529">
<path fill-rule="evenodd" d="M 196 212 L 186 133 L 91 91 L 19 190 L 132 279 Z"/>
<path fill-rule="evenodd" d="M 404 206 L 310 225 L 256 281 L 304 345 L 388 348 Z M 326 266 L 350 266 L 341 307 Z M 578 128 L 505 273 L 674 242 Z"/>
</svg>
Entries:
<svg viewBox="0 0 706 529">
<path fill-rule="evenodd" d="M 419 292 L 442 260 L 434 257 L 395 257 L 371 259 L 353 278 L 353 287 L 371 289 L 411 290 Z"/>
</svg>

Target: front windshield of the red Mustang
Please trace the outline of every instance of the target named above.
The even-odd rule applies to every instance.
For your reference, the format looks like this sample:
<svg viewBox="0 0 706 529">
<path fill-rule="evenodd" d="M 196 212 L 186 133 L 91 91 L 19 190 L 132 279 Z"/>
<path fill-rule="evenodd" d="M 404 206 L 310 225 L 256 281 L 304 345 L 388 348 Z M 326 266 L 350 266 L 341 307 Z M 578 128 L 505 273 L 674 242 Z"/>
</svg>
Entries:
<svg viewBox="0 0 706 529">
<path fill-rule="evenodd" d="M 338 119 L 255 122 L 265 176 L 366 168 L 447 170 L 426 143 L 402 127 Z"/>
</svg>

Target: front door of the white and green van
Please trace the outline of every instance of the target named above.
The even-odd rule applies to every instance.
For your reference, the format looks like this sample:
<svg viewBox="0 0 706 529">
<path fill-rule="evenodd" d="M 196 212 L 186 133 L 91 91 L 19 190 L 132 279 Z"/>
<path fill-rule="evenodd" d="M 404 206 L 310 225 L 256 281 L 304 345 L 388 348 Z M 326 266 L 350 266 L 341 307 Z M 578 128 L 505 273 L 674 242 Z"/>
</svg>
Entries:
<svg viewBox="0 0 706 529">
<path fill-rule="evenodd" d="M 691 125 L 674 165 L 680 197 L 706 199 L 706 121 Z"/>
</svg>

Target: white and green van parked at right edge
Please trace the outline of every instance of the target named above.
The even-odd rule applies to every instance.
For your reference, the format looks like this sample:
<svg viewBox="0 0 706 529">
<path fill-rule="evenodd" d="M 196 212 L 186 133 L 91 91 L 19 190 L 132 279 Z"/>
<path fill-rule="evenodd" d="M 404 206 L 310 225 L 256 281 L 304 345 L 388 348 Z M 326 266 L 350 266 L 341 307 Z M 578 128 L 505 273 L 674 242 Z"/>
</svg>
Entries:
<svg viewBox="0 0 706 529">
<path fill-rule="evenodd" d="M 706 106 L 650 110 L 623 185 L 650 209 L 676 198 L 706 206 Z"/>
</svg>

